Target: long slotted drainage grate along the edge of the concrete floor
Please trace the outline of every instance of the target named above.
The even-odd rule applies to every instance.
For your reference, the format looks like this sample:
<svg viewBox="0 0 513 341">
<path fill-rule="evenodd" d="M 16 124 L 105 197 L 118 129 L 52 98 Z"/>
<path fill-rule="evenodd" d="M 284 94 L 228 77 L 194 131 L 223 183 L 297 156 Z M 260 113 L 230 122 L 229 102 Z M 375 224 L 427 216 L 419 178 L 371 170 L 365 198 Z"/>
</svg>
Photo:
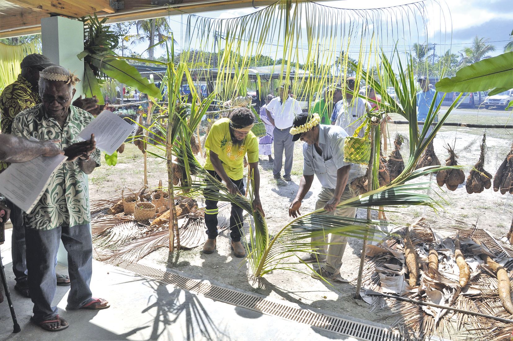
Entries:
<svg viewBox="0 0 513 341">
<path fill-rule="evenodd" d="M 330 316 L 309 309 L 275 302 L 272 299 L 248 294 L 198 279 L 188 278 L 168 271 L 155 269 L 145 264 L 123 262 L 118 267 L 137 275 L 173 285 L 205 297 L 225 302 L 238 307 L 247 308 L 267 315 L 278 316 L 290 321 L 304 323 L 315 328 L 329 330 L 334 333 L 352 336 L 365 341 L 401 341 L 397 331 L 385 327 L 358 322 L 342 317 Z"/>
</svg>

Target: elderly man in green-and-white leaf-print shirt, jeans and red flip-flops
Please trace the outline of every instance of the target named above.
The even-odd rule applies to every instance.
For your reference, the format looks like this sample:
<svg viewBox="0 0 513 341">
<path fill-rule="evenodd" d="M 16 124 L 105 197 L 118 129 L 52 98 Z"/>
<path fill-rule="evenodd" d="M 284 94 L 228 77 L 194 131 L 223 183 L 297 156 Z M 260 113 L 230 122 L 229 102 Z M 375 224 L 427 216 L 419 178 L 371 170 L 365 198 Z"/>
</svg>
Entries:
<svg viewBox="0 0 513 341">
<path fill-rule="evenodd" d="M 40 72 L 39 91 L 43 100 L 19 113 L 13 122 L 13 134 L 38 140 L 61 140 L 57 145 L 68 156 L 58 168 L 41 199 L 30 214 L 25 214 L 28 284 L 34 309 L 32 321 L 45 330 L 67 328 L 68 323 L 52 307 L 55 295 L 55 256 L 62 240 L 68 252 L 71 289 L 67 309 L 105 309 L 108 302 L 92 298 L 92 275 L 87 175 L 100 165 L 100 150 L 94 136 L 77 142 L 78 134 L 93 117 L 71 105 L 78 81 L 61 66 Z"/>
</svg>

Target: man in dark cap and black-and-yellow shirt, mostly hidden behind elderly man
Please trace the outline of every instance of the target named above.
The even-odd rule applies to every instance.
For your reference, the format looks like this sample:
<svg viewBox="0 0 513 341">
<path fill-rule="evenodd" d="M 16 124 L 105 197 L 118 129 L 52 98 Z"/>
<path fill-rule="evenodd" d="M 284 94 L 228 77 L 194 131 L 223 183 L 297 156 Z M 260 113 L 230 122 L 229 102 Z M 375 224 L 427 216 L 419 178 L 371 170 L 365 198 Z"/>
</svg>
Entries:
<svg viewBox="0 0 513 341">
<path fill-rule="evenodd" d="M 20 67 L 21 74 L 16 81 L 5 87 L 0 94 L 0 127 L 2 134 L 12 134 L 12 121 L 25 109 L 34 107 L 41 103 L 38 93 L 39 73 L 45 67 L 54 65 L 43 54 L 32 53 L 27 55 Z M 73 102 L 74 106 L 89 111 L 93 115 L 98 113 L 100 107 L 96 104 L 95 97 L 82 99 L 82 96 Z M 0 172 L 9 166 L 9 163 L 0 161 Z M 24 297 L 30 297 L 30 291 L 27 283 L 27 264 L 25 247 L 25 228 L 23 226 L 23 212 L 19 207 L 10 201 L 6 201 L 11 210 L 12 222 L 12 271 L 16 285 L 14 289 Z M 57 285 L 69 285 L 69 277 L 62 274 L 56 274 Z"/>
</svg>

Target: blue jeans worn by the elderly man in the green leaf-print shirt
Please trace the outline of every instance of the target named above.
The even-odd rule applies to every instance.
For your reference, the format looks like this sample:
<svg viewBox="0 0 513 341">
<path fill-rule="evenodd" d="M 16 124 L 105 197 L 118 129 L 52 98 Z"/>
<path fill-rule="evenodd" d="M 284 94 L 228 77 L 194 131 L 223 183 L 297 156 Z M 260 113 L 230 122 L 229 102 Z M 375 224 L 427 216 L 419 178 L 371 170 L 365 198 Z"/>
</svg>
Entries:
<svg viewBox="0 0 513 341">
<path fill-rule="evenodd" d="M 91 301 L 92 240 L 89 224 L 59 226 L 46 231 L 26 226 L 28 284 L 34 304 L 32 320 L 36 323 L 57 315 L 57 307 L 52 307 L 52 300 L 57 286 L 55 257 L 59 240 L 63 241 L 68 252 L 71 280 L 66 309 L 78 309 Z"/>
</svg>

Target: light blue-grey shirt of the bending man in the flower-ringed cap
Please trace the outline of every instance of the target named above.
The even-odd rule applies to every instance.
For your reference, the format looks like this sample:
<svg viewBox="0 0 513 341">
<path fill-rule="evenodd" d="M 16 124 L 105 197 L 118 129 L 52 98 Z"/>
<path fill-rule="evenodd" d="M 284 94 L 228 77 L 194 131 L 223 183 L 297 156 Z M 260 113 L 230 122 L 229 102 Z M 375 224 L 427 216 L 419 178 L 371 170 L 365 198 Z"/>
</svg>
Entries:
<svg viewBox="0 0 513 341">
<path fill-rule="evenodd" d="M 319 148 L 322 155 L 319 155 L 313 144 L 303 143 L 303 175 L 317 175 L 321 185 L 326 188 L 337 186 L 337 171 L 347 165 L 351 183 L 361 176 L 362 172 L 358 165 L 344 161 L 344 140 L 347 132 L 337 125 L 319 125 Z"/>
</svg>

